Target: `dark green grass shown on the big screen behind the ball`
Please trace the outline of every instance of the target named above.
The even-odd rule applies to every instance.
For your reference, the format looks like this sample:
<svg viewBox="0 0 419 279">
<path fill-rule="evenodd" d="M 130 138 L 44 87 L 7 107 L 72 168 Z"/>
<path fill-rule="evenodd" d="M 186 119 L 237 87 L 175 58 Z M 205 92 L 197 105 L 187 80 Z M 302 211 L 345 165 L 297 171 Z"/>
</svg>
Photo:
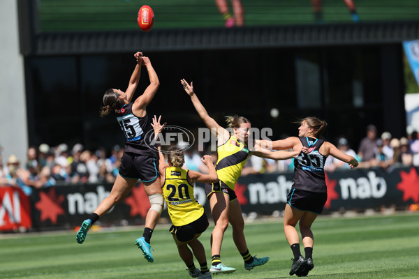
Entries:
<svg viewBox="0 0 419 279">
<path fill-rule="evenodd" d="M 419 20 L 417 0 L 354 2 L 361 21 Z M 224 26 L 214 0 L 40 0 L 39 3 L 39 26 L 45 32 L 139 30 L 137 13 L 145 4 L 154 10 L 153 29 Z M 242 6 L 246 26 L 315 23 L 311 0 L 242 0 Z M 324 23 L 351 22 L 344 1 L 322 0 L 322 7 Z"/>
</svg>

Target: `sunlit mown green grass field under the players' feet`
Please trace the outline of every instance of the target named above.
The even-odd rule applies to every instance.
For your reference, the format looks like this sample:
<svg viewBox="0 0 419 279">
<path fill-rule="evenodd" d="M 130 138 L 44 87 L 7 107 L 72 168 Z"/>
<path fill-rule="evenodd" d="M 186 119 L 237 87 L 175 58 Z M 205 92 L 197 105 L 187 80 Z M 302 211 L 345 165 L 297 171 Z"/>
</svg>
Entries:
<svg viewBox="0 0 419 279">
<path fill-rule="evenodd" d="M 76 243 L 75 232 L 0 234 L 0 278 L 190 278 L 168 227 L 159 225 L 153 234 L 154 263 L 147 262 L 134 244 L 143 227 L 89 232 L 82 245 Z M 211 231 L 212 226 L 200 237 L 208 261 Z M 419 276 L 418 213 L 356 218 L 325 216 L 316 220 L 313 231 L 314 269 L 309 278 Z M 279 220 L 247 224 L 245 234 L 251 254 L 270 257 L 270 262 L 246 271 L 229 228 L 221 259 L 237 271 L 214 278 L 290 277 L 292 252 Z"/>
</svg>

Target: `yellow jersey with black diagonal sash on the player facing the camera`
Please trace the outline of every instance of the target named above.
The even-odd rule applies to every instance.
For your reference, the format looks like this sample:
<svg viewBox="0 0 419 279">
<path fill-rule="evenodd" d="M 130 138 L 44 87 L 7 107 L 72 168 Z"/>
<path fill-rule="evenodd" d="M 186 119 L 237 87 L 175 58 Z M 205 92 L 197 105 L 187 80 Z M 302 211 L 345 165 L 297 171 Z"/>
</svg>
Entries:
<svg viewBox="0 0 419 279">
<path fill-rule="evenodd" d="M 247 144 L 239 142 L 237 137 L 231 136 L 226 143 L 217 147 L 218 160 L 216 174 L 219 180 L 234 190 L 235 183 L 242 174 L 242 168 L 249 158 L 250 151 Z"/>
</svg>

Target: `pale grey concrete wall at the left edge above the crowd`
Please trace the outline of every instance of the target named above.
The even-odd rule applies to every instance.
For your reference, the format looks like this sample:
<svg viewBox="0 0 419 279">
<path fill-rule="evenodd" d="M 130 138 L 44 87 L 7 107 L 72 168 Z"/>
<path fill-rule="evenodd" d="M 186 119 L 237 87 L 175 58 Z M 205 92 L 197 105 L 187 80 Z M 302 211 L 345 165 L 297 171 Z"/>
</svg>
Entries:
<svg viewBox="0 0 419 279">
<path fill-rule="evenodd" d="M 24 164 L 28 148 L 27 108 L 16 0 L 0 1 L 0 41 L 0 144 L 3 163 L 15 154 Z"/>
</svg>

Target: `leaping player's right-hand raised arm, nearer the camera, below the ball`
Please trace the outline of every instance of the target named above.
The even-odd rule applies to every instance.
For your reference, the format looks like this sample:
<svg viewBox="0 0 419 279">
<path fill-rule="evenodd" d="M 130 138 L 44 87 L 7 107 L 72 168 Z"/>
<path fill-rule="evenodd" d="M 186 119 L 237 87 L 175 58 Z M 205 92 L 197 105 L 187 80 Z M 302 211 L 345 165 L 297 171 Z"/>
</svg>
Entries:
<svg viewBox="0 0 419 279">
<path fill-rule="evenodd" d="M 156 74 L 152 66 L 152 62 L 146 56 L 142 56 L 142 65 L 147 68 L 149 73 L 150 84 L 145 89 L 144 93 L 139 96 L 133 104 L 133 112 L 136 116 L 144 117 L 145 116 L 145 107 L 152 101 L 154 94 L 156 94 L 157 89 L 159 89 L 159 77 Z"/>
</svg>

